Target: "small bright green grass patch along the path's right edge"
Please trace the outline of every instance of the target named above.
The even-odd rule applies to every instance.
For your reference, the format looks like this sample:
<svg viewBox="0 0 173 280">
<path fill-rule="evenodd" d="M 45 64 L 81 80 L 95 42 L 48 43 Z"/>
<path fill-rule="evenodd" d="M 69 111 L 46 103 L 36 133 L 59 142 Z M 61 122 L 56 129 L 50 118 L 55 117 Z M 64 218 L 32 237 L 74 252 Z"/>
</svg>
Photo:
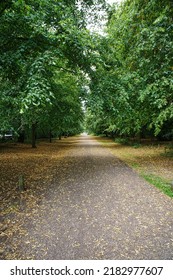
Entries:
<svg viewBox="0 0 173 280">
<path fill-rule="evenodd" d="M 154 185 L 158 189 L 160 189 L 164 194 L 173 198 L 173 187 L 163 178 L 157 177 L 152 174 L 141 174 L 142 177 L 148 181 L 150 184 Z"/>
</svg>

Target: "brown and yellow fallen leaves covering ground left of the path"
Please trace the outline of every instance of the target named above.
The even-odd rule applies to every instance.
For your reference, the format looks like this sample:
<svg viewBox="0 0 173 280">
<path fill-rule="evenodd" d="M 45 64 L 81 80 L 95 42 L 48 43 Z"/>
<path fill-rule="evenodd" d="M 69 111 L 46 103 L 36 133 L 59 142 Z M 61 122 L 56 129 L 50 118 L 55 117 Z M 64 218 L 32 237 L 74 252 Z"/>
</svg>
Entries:
<svg viewBox="0 0 173 280">
<path fill-rule="evenodd" d="M 27 235 L 23 225 L 26 225 L 33 215 L 37 217 L 39 205 L 44 200 L 44 193 L 54 176 L 54 167 L 60 164 L 68 149 L 68 145 L 57 145 L 56 141 L 50 144 L 42 141 L 37 149 L 32 149 L 28 144 L 0 145 L 0 259 L 22 259 L 17 248 L 20 248 L 20 238 Z M 24 180 L 23 191 L 19 190 L 21 175 Z M 28 226 L 34 227 L 34 224 Z M 32 248 L 40 246 L 34 245 L 34 242 L 28 237 L 25 241 L 26 247 L 31 244 Z M 13 247 L 9 245 L 11 243 Z M 31 254 L 31 259 L 33 258 L 34 255 Z"/>
</svg>

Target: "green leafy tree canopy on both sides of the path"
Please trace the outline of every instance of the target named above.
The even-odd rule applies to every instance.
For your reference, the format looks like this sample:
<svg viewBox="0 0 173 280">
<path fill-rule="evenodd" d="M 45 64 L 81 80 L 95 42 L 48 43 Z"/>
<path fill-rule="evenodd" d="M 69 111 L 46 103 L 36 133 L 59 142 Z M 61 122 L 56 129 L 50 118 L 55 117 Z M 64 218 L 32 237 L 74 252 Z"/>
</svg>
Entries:
<svg viewBox="0 0 173 280">
<path fill-rule="evenodd" d="M 171 0 L 2 0 L 0 130 L 80 132 L 85 101 L 90 132 L 172 135 L 172 15 Z"/>
</svg>

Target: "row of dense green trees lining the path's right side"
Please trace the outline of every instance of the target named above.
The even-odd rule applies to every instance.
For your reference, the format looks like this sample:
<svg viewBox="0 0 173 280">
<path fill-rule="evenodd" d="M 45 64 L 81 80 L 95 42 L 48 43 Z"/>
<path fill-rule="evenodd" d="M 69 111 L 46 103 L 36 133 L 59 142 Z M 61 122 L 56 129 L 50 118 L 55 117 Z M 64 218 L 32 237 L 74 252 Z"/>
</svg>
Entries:
<svg viewBox="0 0 173 280">
<path fill-rule="evenodd" d="M 86 126 L 123 136 L 173 135 L 173 2 L 125 0 L 97 37 Z"/>
</svg>

